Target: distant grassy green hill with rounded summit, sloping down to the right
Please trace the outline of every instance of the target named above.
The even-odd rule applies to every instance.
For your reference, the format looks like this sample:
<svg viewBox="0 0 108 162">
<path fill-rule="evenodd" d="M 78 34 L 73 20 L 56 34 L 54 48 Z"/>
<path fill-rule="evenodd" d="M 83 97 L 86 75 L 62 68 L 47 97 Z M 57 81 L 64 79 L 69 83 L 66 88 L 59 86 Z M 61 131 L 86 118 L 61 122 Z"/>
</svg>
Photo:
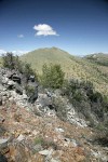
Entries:
<svg viewBox="0 0 108 162">
<path fill-rule="evenodd" d="M 90 80 L 97 91 L 108 94 L 108 66 L 104 65 L 108 63 L 107 54 L 78 57 L 57 48 L 45 48 L 24 54 L 21 59 L 31 64 L 38 73 L 42 72 L 44 64 L 59 64 L 67 79 Z"/>
</svg>

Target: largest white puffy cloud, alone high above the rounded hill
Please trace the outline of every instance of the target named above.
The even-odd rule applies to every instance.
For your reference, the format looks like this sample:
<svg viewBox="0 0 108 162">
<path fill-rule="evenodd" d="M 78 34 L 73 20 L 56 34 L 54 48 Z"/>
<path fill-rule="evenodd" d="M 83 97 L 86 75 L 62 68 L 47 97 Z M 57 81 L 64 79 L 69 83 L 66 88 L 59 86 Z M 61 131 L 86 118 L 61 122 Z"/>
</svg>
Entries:
<svg viewBox="0 0 108 162">
<path fill-rule="evenodd" d="M 36 30 L 35 36 L 58 36 L 57 32 L 48 24 L 35 25 L 33 29 Z"/>
</svg>

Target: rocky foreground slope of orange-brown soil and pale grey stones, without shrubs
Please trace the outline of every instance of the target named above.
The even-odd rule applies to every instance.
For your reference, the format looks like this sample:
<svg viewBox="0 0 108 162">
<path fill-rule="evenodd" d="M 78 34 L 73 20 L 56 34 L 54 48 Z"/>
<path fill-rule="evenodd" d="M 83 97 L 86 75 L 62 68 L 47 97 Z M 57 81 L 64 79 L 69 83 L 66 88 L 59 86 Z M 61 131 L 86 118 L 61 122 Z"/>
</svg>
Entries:
<svg viewBox="0 0 108 162">
<path fill-rule="evenodd" d="M 93 143 L 97 133 L 59 91 L 39 87 L 31 104 L 22 76 L 16 83 L 9 73 L 0 69 L 0 162 L 108 161 L 108 147 Z M 57 116 L 56 98 L 65 107 L 65 119 Z"/>
</svg>

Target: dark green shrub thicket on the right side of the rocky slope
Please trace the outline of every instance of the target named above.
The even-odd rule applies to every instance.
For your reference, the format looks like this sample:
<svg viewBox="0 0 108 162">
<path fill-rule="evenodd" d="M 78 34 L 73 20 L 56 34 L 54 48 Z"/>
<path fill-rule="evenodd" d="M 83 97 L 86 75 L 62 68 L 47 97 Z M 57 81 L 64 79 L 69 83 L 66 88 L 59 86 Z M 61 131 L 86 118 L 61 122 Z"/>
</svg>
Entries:
<svg viewBox="0 0 108 162">
<path fill-rule="evenodd" d="M 96 92 L 91 82 L 72 79 L 64 85 L 63 92 L 86 120 L 94 121 L 95 116 L 98 121 L 104 122 L 105 112 L 108 113 L 108 98 Z"/>
</svg>

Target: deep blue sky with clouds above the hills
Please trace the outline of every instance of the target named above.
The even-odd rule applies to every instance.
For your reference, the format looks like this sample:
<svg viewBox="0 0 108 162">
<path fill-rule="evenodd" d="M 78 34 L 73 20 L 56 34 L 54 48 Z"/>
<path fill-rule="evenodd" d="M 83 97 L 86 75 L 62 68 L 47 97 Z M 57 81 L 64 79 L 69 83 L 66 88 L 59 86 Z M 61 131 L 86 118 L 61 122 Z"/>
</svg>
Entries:
<svg viewBox="0 0 108 162">
<path fill-rule="evenodd" d="M 0 53 L 108 53 L 107 0 L 0 0 Z"/>
</svg>

